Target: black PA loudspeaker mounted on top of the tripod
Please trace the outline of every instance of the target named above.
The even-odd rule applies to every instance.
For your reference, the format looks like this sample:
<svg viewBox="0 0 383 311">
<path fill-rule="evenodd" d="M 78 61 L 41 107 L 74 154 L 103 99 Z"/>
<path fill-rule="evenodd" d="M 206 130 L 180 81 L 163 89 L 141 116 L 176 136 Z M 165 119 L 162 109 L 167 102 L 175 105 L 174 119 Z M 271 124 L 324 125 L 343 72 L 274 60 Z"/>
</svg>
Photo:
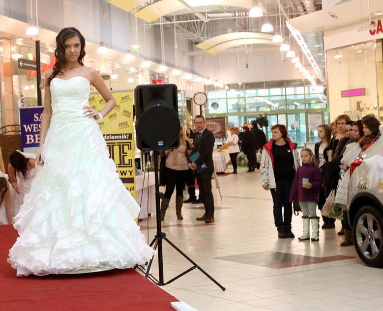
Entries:
<svg viewBox="0 0 383 311">
<path fill-rule="evenodd" d="M 177 86 L 137 85 L 134 89 L 137 147 L 166 150 L 179 147 Z"/>
</svg>

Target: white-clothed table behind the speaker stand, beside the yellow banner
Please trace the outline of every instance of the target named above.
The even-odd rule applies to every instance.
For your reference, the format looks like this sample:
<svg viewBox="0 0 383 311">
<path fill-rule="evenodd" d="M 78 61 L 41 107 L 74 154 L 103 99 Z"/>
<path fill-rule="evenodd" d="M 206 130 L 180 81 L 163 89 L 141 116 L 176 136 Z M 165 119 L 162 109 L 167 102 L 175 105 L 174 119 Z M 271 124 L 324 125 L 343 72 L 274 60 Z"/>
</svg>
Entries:
<svg viewBox="0 0 383 311">
<path fill-rule="evenodd" d="M 145 175 L 136 175 L 136 193 L 137 203 L 141 205 L 139 219 L 147 218 L 148 214 L 155 213 L 155 179 L 153 171 Z"/>
</svg>

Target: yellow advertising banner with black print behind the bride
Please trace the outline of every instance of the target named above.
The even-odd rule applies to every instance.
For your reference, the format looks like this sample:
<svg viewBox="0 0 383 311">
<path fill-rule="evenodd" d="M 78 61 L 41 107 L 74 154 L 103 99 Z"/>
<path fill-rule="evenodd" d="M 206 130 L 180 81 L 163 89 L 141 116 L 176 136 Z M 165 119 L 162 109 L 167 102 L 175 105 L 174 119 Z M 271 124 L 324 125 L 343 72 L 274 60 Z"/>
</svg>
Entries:
<svg viewBox="0 0 383 311">
<path fill-rule="evenodd" d="M 115 161 L 119 178 L 130 194 L 136 196 L 134 164 L 133 91 L 112 91 L 116 107 L 99 123 L 110 157 Z M 100 111 L 105 100 L 99 93 L 90 93 L 89 106 Z"/>
</svg>

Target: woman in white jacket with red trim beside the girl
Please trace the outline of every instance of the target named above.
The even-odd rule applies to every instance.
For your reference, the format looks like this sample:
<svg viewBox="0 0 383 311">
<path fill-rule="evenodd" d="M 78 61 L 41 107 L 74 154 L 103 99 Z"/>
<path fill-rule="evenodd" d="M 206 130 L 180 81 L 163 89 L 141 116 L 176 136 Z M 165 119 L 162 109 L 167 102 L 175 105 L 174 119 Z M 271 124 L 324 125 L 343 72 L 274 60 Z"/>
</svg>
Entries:
<svg viewBox="0 0 383 311">
<path fill-rule="evenodd" d="M 265 144 L 262 152 L 262 187 L 271 192 L 278 238 L 294 238 L 291 231 L 293 207 L 289 197 L 295 171 L 300 166 L 297 144 L 287 138 L 285 125 L 274 125 L 271 133 L 272 139 Z"/>
</svg>

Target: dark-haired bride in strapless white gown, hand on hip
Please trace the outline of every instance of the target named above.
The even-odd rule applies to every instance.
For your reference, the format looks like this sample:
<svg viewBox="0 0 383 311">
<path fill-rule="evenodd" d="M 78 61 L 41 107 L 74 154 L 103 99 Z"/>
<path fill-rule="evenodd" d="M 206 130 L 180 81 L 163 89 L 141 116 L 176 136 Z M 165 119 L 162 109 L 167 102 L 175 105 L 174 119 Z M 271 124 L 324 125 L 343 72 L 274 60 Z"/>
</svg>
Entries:
<svg viewBox="0 0 383 311">
<path fill-rule="evenodd" d="M 85 39 L 76 28 L 62 29 L 56 43 L 36 155 L 42 169 L 15 217 L 20 237 L 8 262 L 18 276 L 144 264 L 155 252 L 134 221 L 140 207 L 119 180 L 96 122 L 116 102 L 100 75 L 83 66 Z M 88 107 L 90 84 L 105 99 L 100 112 Z"/>
</svg>

